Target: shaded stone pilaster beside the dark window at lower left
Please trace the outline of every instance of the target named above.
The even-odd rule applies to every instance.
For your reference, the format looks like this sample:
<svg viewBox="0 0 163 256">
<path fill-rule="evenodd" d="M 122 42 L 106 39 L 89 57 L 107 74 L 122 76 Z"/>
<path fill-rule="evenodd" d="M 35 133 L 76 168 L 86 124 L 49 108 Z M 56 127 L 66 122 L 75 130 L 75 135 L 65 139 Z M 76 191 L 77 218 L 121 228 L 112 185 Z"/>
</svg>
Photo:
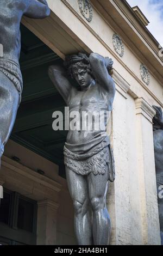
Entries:
<svg viewBox="0 0 163 256">
<path fill-rule="evenodd" d="M 37 245 L 55 245 L 59 205 L 52 200 L 42 200 L 37 205 Z"/>
</svg>

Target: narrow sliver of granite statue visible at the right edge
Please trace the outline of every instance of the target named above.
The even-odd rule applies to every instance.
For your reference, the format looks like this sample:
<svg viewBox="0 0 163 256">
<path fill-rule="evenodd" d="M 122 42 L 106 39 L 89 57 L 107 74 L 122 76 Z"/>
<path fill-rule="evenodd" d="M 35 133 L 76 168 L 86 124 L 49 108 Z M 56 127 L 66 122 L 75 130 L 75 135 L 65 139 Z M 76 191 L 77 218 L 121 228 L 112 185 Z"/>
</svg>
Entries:
<svg viewBox="0 0 163 256">
<path fill-rule="evenodd" d="M 163 116 L 160 107 L 153 106 L 153 108 L 156 111 L 156 115 L 153 118 L 153 137 L 161 245 L 163 245 Z"/>
</svg>

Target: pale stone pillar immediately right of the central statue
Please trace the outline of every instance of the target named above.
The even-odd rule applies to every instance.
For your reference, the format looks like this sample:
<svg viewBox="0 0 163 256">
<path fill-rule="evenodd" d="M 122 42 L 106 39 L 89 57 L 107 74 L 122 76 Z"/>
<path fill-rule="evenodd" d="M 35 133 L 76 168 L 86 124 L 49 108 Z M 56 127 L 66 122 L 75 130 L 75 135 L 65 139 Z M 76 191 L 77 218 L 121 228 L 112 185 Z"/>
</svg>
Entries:
<svg viewBox="0 0 163 256">
<path fill-rule="evenodd" d="M 129 84 L 114 70 L 116 95 L 112 111 L 111 144 L 114 149 L 116 179 L 110 185 L 108 204 L 112 223 L 110 245 L 130 245 L 129 170 L 127 147 L 127 99 Z"/>
</svg>

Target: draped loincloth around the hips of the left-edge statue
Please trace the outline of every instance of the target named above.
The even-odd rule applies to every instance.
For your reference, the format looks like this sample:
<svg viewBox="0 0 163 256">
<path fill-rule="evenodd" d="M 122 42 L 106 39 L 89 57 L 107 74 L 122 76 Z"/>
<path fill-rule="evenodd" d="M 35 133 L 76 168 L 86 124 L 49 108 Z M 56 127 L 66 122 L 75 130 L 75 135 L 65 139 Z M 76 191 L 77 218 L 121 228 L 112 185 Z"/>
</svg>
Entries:
<svg viewBox="0 0 163 256">
<path fill-rule="evenodd" d="M 20 96 L 19 104 L 21 102 L 21 95 L 23 90 L 23 79 L 20 66 L 8 59 L 0 59 L 0 71 L 14 84 Z"/>
</svg>

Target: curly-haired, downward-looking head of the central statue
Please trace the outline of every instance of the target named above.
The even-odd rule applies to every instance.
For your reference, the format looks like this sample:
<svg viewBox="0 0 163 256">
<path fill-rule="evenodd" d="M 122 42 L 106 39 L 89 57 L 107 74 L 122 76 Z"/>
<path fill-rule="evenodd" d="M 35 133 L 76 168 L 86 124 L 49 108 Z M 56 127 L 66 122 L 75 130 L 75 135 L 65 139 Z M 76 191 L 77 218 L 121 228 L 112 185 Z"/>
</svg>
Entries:
<svg viewBox="0 0 163 256">
<path fill-rule="evenodd" d="M 68 74 L 77 81 L 80 88 L 89 87 L 94 80 L 89 58 L 86 54 L 79 53 L 78 55 L 67 56 L 64 65 Z"/>
</svg>

